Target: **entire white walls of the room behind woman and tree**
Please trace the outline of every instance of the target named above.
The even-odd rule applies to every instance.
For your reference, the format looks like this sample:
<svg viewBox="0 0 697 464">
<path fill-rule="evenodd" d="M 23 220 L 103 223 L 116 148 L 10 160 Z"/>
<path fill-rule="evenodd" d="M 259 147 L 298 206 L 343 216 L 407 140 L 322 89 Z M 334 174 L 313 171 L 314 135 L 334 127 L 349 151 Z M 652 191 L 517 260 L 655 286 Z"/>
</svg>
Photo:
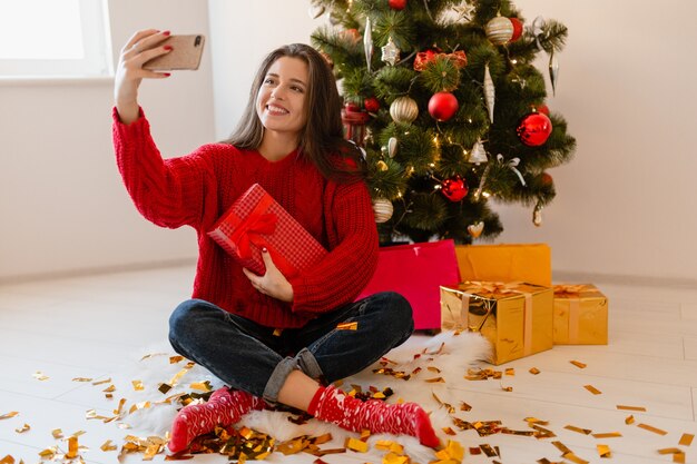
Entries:
<svg viewBox="0 0 697 464">
<path fill-rule="evenodd" d="M 497 241 L 549 243 L 556 277 L 697 285 L 697 157 L 689 145 L 697 121 L 697 3 L 516 4 L 529 22 L 540 14 L 569 27 L 549 106 L 567 118 L 578 150 L 551 171 L 558 197 L 544 209 L 543 226 L 531 225 L 528 208 L 500 206 L 505 231 Z M 200 32 L 210 24 L 202 70 L 144 86 L 143 103 L 164 152 L 186 152 L 229 134 L 263 56 L 308 41 L 326 20 L 310 19 L 308 6 L 209 0 L 208 19 L 204 0 L 111 2 L 119 47 L 141 27 Z M 189 230 L 145 223 L 125 195 L 110 146 L 110 85 L 0 86 L 0 280 L 195 256 Z"/>
</svg>

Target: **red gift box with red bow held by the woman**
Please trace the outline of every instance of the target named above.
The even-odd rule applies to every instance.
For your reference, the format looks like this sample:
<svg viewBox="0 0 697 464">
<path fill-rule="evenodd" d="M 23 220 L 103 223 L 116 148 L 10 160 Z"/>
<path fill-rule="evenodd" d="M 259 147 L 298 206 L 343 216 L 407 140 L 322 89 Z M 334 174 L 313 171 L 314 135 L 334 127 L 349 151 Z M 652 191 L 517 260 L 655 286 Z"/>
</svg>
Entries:
<svg viewBox="0 0 697 464">
<path fill-rule="evenodd" d="M 322 259 L 327 251 L 258 184 L 242 194 L 208 233 L 247 269 L 266 273 L 262 248 L 278 270 L 292 277 Z"/>
</svg>

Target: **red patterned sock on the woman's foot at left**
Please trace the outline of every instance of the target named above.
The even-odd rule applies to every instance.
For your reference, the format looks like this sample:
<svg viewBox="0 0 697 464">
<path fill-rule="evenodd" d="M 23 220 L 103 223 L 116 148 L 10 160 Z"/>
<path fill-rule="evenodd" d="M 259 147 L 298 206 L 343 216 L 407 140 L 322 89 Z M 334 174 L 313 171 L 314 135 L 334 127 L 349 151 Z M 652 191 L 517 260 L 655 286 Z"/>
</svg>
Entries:
<svg viewBox="0 0 697 464">
<path fill-rule="evenodd" d="M 249 411 L 263 409 L 264 405 L 264 399 L 246 392 L 219 388 L 210 395 L 208 403 L 193 404 L 177 413 L 167 446 L 173 453 L 178 453 L 197 436 L 213 432 L 216 425 L 235 424 Z"/>
</svg>

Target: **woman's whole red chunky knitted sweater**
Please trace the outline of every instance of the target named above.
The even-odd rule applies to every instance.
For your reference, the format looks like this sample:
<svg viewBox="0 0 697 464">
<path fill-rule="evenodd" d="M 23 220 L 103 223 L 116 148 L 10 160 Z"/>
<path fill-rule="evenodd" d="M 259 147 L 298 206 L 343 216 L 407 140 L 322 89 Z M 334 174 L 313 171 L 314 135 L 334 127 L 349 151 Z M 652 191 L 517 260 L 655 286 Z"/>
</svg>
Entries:
<svg viewBox="0 0 697 464">
<path fill-rule="evenodd" d="M 377 231 L 364 182 L 326 180 L 297 151 L 267 161 L 226 144 L 163 159 L 143 115 L 126 126 L 116 108 L 114 147 L 124 184 L 138 210 L 161 227 L 192 226 L 198 235 L 193 297 L 268 327 L 300 327 L 355 299 L 377 264 Z M 206 233 L 254 182 L 268 191 L 330 253 L 289 279 L 293 303 L 259 294 L 242 267 Z"/>
</svg>

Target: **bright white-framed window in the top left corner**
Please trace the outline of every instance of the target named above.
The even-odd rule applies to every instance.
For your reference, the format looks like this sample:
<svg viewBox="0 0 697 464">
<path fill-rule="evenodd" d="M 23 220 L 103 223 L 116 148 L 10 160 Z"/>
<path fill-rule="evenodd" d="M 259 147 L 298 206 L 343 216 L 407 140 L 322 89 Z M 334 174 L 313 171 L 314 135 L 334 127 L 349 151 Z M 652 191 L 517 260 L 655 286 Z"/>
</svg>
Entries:
<svg viewBox="0 0 697 464">
<path fill-rule="evenodd" d="M 106 0 L 0 0 L 0 77 L 110 76 Z"/>
</svg>

